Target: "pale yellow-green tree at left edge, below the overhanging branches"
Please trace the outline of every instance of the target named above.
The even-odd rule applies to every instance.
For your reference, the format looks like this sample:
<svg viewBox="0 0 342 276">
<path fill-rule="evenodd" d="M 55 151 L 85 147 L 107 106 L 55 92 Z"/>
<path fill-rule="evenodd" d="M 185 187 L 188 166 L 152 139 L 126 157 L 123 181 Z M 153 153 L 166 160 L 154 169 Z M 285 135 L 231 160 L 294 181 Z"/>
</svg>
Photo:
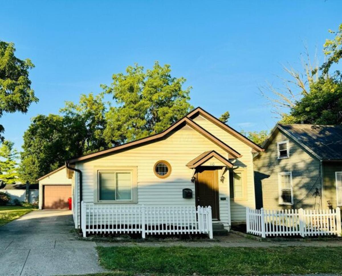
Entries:
<svg viewBox="0 0 342 276">
<path fill-rule="evenodd" d="M 17 165 L 18 152 L 13 148 L 14 143 L 5 140 L 0 146 L 0 179 L 5 184 L 18 181 Z"/>
</svg>

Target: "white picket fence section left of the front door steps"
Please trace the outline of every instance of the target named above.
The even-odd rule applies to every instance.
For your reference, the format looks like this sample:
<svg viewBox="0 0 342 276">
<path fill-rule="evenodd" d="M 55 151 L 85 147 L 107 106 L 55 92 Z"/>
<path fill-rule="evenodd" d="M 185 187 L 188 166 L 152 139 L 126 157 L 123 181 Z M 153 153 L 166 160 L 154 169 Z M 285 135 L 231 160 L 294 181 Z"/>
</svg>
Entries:
<svg viewBox="0 0 342 276">
<path fill-rule="evenodd" d="M 213 238 L 211 207 L 105 205 L 81 202 L 81 229 L 87 233 L 208 234 Z"/>
</svg>

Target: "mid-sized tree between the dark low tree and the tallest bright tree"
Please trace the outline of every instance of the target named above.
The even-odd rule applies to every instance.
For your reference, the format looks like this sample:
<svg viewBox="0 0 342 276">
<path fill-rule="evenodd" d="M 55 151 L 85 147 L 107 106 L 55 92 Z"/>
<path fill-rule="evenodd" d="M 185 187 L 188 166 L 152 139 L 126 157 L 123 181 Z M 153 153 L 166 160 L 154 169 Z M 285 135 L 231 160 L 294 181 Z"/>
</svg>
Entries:
<svg viewBox="0 0 342 276">
<path fill-rule="evenodd" d="M 103 132 L 106 128 L 106 106 L 103 102 L 103 93 L 94 96 L 82 94 L 79 104 L 66 102 L 60 110 L 64 114 L 65 121 L 70 129 L 79 129 L 79 143 L 83 154 L 101 150 L 108 147 Z"/>
</svg>

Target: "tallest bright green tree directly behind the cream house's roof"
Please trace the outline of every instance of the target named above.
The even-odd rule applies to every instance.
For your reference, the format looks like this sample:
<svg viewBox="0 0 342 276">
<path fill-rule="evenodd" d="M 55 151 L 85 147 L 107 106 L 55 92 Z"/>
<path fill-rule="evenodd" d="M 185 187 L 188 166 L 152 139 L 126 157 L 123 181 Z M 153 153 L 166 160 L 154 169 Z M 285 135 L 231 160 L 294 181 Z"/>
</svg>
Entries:
<svg viewBox="0 0 342 276">
<path fill-rule="evenodd" d="M 159 133 L 185 116 L 192 106 L 191 87 L 183 90 L 184 83 L 185 78 L 171 76 L 169 65 L 158 62 L 146 72 L 135 64 L 126 74 L 114 74 L 110 86 L 102 85 L 117 104 L 105 116 L 106 142 L 117 145 Z"/>
</svg>

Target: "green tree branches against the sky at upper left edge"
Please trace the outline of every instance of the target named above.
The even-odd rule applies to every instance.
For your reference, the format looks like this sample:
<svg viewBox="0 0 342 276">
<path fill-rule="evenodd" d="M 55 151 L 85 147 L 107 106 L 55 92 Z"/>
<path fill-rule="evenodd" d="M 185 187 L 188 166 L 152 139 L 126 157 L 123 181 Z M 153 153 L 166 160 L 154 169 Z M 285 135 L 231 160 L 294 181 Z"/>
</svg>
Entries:
<svg viewBox="0 0 342 276">
<path fill-rule="evenodd" d="M 38 102 L 28 77 L 34 65 L 29 59 L 18 59 L 14 52 L 13 43 L 0 40 L 0 117 L 3 113 L 26 113 L 32 102 Z M 0 125 L 1 141 L 3 131 Z"/>
</svg>

